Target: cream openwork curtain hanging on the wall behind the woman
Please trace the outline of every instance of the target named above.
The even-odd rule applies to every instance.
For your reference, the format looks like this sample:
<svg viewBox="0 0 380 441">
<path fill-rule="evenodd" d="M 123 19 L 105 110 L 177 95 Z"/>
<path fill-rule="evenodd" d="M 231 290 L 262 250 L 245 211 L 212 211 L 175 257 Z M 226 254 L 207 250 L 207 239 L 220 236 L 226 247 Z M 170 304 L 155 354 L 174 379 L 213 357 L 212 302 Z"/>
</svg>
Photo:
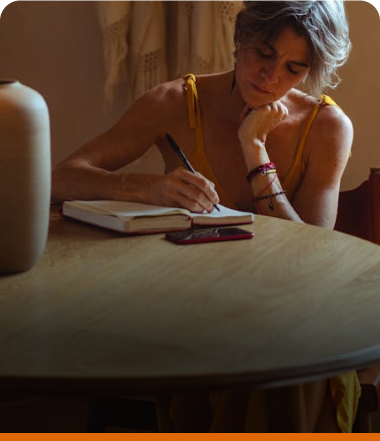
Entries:
<svg viewBox="0 0 380 441">
<path fill-rule="evenodd" d="M 235 17 L 242 1 L 97 1 L 106 69 L 105 104 L 130 104 L 186 73 L 233 67 Z"/>
</svg>

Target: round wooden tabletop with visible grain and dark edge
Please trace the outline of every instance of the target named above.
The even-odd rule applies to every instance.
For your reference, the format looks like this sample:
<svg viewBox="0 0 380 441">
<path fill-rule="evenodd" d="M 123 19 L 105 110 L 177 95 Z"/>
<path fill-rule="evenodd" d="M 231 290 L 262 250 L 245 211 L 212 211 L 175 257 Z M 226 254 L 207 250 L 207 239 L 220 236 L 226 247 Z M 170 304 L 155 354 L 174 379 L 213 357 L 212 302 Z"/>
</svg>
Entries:
<svg viewBox="0 0 380 441">
<path fill-rule="evenodd" d="M 255 238 L 179 246 L 54 209 L 36 266 L 0 278 L 0 390 L 273 387 L 380 359 L 380 247 L 244 228 Z"/>
</svg>

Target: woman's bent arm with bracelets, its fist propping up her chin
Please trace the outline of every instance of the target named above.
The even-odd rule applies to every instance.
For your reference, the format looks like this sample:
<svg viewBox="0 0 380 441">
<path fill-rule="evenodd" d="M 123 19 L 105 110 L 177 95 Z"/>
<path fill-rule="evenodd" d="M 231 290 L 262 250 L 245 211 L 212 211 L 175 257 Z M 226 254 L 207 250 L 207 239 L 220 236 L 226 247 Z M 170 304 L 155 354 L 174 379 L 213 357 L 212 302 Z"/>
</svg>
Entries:
<svg viewBox="0 0 380 441">
<path fill-rule="evenodd" d="M 305 175 L 294 195 L 288 195 L 276 174 L 255 174 L 270 163 L 267 133 L 283 118 L 287 109 L 278 101 L 248 111 L 238 130 L 253 201 L 258 213 L 326 228 L 335 225 L 340 180 L 350 155 L 353 127 L 336 106 L 324 106 L 315 117 L 305 145 Z"/>
</svg>

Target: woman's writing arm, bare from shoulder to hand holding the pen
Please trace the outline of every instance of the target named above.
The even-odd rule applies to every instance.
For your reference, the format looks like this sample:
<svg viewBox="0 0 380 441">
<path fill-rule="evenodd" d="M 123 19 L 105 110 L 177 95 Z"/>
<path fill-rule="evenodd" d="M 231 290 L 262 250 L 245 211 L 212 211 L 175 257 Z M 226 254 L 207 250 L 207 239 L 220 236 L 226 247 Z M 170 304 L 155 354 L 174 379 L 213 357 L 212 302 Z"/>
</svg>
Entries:
<svg viewBox="0 0 380 441">
<path fill-rule="evenodd" d="M 53 167 L 52 200 L 117 199 L 211 211 L 218 202 L 213 186 L 182 167 L 164 176 L 118 171 L 170 132 L 179 113 L 175 96 L 166 85 L 147 92 L 112 128 Z"/>
</svg>

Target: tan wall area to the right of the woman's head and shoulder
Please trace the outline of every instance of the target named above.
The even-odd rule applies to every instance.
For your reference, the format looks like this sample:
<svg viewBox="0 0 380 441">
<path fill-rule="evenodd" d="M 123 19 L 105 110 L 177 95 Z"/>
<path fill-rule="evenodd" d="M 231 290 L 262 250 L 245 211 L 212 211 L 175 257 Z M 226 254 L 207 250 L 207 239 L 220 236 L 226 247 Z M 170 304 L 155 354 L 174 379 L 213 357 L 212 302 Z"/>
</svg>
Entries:
<svg viewBox="0 0 380 441">
<path fill-rule="evenodd" d="M 353 156 L 342 181 L 351 188 L 380 165 L 380 16 L 369 2 L 346 3 L 353 50 L 331 94 L 354 123 Z"/>
</svg>

